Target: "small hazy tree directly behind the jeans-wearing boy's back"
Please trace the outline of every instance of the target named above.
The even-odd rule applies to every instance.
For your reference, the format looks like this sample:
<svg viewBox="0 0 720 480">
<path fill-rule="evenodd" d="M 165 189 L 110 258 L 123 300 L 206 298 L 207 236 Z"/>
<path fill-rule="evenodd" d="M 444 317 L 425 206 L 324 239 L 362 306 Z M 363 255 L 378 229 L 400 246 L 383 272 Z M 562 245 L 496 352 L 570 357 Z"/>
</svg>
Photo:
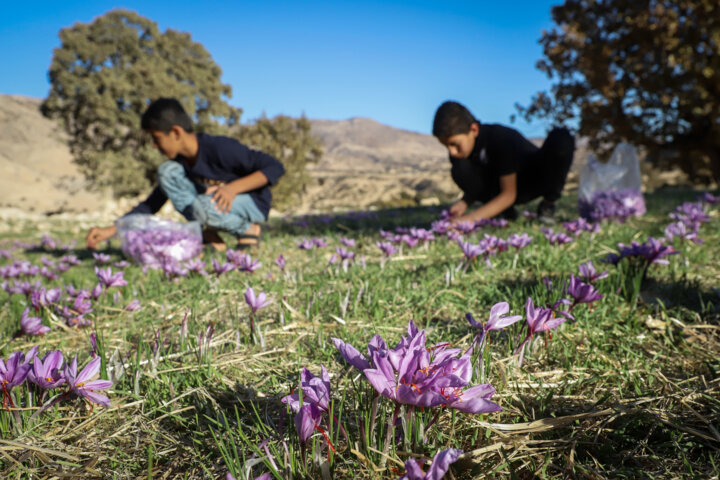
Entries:
<svg viewBox="0 0 720 480">
<path fill-rule="evenodd" d="M 240 126 L 233 136 L 274 156 L 285 166 L 285 175 L 273 187 L 273 205 L 283 209 L 297 201 L 310 180 L 307 165 L 322 156 L 322 144 L 311 134 L 310 121 L 305 116 L 262 116 L 252 124 Z"/>
</svg>

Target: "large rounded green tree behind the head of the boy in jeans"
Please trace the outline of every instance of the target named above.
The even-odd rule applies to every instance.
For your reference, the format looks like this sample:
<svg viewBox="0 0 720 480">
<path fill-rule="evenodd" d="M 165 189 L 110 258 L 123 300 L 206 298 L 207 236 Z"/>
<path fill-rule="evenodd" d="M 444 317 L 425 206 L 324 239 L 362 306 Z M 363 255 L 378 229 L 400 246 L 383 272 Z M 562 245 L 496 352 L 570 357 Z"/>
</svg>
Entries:
<svg viewBox="0 0 720 480">
<path fill-rule="evenodd" d="M 61 120 L 90 181 L 116 195 L 146 190 L 163 161 L 140 130 L 152 99 L 180 100 L 198 131 L 222 133 L 240 119 L 220 67 L 187 33 L 161 32 L 134 12 L 113 10 L 62 29 L 60 41 L 42 111 Z"/>
</svg>

